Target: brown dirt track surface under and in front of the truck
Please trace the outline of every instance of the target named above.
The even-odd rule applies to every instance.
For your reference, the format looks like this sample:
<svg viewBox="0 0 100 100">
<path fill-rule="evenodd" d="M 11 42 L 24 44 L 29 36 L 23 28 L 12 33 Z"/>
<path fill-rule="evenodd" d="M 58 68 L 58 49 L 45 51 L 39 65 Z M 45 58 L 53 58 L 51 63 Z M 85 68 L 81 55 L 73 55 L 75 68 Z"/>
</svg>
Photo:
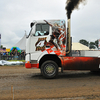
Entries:
<svg viewBox="0 0 100 100">
<path fill-rule="evenodd" d="M 39 69 L 0 66 L 0 100 L 100 100 L 100 74 L 64 71 L 45 79 Z"/>
</svg>

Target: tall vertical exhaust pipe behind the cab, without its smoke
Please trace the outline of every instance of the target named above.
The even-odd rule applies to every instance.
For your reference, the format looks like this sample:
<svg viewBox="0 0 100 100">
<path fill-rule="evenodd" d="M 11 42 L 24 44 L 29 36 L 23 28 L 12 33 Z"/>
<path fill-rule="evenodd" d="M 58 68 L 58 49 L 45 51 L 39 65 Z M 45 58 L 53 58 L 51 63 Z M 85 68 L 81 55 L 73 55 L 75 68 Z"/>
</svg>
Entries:
<svg viewBox="0 0 100 100">
<path fill-rule="evenodd" d="M 72 47 L 72 37 L 70 34 L 70 18 L 68 19 L 68 27 L 67 27 L 67 46 L 66 46 L 66 56 L 72 56 L 71 47 Z"/>
</svg>

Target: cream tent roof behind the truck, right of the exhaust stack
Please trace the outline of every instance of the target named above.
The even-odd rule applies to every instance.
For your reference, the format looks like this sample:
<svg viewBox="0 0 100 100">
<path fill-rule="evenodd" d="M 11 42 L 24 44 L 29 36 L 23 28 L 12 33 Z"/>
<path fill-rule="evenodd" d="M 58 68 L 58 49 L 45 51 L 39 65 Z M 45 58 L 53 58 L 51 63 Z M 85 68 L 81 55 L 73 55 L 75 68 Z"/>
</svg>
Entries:
<svg viewBox="0 0 100 100">
<path fill-rule="evenodd" d="M 81 43 L 72 43 L 72 50 L 90 50 L 89 47 Z"/>
</svg>

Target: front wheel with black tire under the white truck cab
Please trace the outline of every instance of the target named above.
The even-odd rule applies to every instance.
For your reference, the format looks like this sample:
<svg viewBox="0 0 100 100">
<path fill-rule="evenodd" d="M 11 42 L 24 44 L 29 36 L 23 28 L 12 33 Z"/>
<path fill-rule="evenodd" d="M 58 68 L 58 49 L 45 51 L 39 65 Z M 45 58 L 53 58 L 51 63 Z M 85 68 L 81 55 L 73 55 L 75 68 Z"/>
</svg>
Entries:
<svg viewBox="0 0 100 100">
<path fill-rule="evenodd" d="M 52 61 L 45 61 L 41 65 L 41 73 L 45 78 L 55 78 L 58 75 L 58 65 Z"/>
</svg>

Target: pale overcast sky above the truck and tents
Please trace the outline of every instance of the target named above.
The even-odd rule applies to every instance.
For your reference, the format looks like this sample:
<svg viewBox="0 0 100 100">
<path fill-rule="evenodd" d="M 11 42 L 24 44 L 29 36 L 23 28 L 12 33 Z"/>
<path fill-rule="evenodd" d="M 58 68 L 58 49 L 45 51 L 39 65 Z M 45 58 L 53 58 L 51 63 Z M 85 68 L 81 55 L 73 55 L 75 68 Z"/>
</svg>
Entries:
<svg viewBox="0 0 100 100">
<path fill-rule="evenodd" d="M 33 20 L 64 19 L 67 0 L 0 0 L 1 44 L 13 47 L 30 31 Z M 71 14 L 72 42 L 85 39 L 94 42 L 100 38 L 100 0 L 87 0 Z"/>
</svg>

